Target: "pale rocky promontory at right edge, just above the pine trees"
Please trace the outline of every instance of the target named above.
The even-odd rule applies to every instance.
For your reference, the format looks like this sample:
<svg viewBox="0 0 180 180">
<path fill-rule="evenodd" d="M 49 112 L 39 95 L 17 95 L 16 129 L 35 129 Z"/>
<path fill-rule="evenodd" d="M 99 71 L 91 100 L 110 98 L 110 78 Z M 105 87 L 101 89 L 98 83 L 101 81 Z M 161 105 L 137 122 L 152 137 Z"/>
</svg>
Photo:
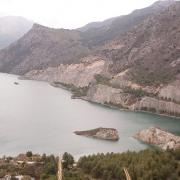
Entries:
<svg viewBox="0 0 180 180">
<path fill-rule="evenodd" d="M 180 148 L 180 137 L 156 127 L 139 131 L 136 139 L 156 145 L 164 150 Z"/>
</svg>

